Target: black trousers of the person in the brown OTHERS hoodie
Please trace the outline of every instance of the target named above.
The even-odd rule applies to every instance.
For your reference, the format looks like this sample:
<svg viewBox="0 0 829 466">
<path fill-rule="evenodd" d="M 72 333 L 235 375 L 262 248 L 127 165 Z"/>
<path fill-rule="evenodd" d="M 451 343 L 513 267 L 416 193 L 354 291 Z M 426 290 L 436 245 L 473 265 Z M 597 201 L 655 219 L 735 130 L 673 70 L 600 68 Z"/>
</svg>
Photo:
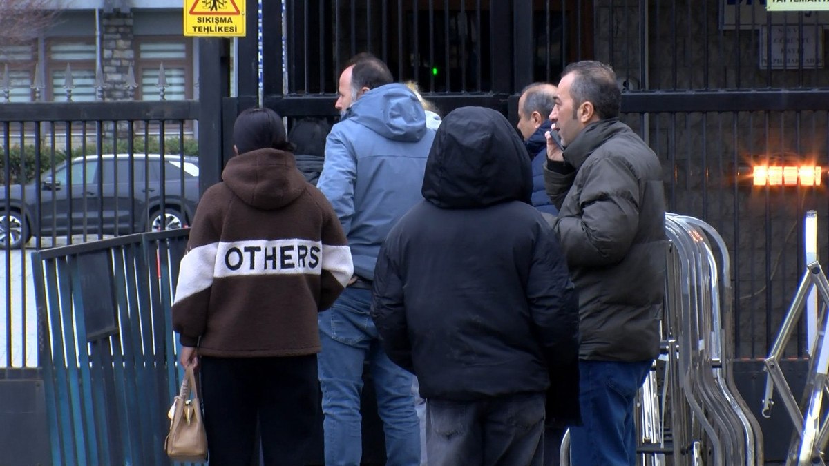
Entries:
<svg viewBox="0 0 829 466">
<path fill-rule="evenodd" d="M 201 357 L 211 466 L 249 466 L 257 426 L 264 464 L 301 465 L 317 433 L 317 356 Z"/>
</svg>

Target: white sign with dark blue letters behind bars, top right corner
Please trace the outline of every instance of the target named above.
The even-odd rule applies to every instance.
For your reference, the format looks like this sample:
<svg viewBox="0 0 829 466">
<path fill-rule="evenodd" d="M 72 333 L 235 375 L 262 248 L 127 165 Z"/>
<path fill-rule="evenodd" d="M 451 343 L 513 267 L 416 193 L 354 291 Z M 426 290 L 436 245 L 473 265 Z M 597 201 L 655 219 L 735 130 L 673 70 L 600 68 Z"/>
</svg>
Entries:
<svg viewBox="0 0 829 466">
<path fill-rule="evenodd" d="M 720 0 L 720 29 L 758 29 L 771 24 L 797 25 L 800 18 L 809 26 L 829 26 L 829 12 L 767 12 L 766 0 Z"/>
</svg>

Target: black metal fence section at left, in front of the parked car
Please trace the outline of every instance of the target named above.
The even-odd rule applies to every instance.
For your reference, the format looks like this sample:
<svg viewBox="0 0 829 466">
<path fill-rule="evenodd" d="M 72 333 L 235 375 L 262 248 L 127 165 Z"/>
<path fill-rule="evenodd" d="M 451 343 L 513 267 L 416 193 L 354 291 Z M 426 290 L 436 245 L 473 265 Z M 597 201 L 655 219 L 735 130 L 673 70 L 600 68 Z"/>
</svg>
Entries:
<svg viewBox="0 0 829 466">
<path fill-rule="evenodd" d="M 0 103 L 0 366 L 38 366 L 27 248 L 191 220 L 198 111 L 196 101 Z"/>
</svg>

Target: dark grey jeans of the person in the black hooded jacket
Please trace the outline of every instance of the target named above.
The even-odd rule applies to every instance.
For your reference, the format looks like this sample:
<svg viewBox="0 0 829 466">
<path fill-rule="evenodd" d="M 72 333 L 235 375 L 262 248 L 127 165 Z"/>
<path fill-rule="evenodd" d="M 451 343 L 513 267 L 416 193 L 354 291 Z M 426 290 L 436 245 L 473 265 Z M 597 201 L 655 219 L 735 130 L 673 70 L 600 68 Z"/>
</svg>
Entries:
<svg viewBox="0 0 829 466">
<path fill-rule="evenodd" d="M 516 464 L 542 466 L 544 393 L 478 401 L 429 399 L 429 466 Z"/>
</svg>

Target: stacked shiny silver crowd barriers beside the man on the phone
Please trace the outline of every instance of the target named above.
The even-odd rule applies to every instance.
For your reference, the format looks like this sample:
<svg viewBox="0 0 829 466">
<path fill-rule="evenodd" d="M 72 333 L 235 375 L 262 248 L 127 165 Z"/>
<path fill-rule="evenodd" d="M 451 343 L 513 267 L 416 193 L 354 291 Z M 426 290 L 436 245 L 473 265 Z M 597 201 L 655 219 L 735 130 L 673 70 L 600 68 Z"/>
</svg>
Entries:
<svg viewBox="0 0 829 466">
<path fill-rule="evenodd" d="M 638 394 L 639 464 L 764 464 L 759 423 L 734 386 L 728 249 L 693 217 L 667 214 L 665 231 L 663 353 Z M 562 466 L 569 442 L 565 435 Z"/>
</svg>

